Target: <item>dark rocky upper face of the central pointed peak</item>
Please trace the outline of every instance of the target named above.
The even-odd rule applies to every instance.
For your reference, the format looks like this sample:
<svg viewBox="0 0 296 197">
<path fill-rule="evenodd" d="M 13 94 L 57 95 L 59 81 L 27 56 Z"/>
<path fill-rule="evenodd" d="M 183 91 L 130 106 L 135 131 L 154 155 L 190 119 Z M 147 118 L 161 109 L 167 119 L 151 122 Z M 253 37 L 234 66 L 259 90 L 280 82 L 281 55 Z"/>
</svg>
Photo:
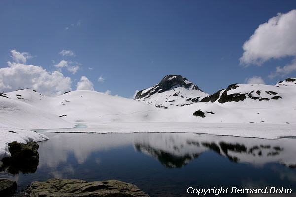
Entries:
<svg viewBox="0 0 296 197">
<path fill-rule="evenodd" d="M 181 75 L 167 75 L 158 84 L 152 86 L 148 91 L 147 89 L 141 90 L 136 94 L 135 99 L 141 99 L 147 95 L 153 95 L 154 93 L 162 93 L 172 89 L 173 87 L 184 87 L 192 90 L 200 90 L 198 86 L 189 82 L 186 77 Z M 145 92 L 146 91 L 146 92 Z"/>
</svg>

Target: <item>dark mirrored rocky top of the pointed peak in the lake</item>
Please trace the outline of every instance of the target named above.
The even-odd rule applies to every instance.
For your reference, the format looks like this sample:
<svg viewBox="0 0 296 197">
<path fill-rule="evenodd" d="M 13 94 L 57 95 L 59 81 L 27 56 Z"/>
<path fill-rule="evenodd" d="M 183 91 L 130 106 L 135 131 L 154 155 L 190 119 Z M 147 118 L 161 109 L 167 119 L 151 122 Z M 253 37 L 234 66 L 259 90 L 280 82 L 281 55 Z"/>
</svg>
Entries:
<svg viewBox="0 0 296 197">
<path fill-rule="evenodd" d="M 167 153 L 162 150 L 154 149 L 149 145 L 146 146 L 146 145 L 137 144 L 137 143 L 135 144 L 135 148 L 139 152 L 147 153 L 155 157 L 160 161 L 161 164 L 163 164 L 167 168 L 181 168 L 186 164 L 188 164 L 189 162 L 191 162 L 192 160 L 194 160 L 195 158 L 197 158 L 199 155 L 199 154 L 195 154 L 195 155 L 186 154 L 184 156 L 176 156 L 174 154 Z"/>
</svg>

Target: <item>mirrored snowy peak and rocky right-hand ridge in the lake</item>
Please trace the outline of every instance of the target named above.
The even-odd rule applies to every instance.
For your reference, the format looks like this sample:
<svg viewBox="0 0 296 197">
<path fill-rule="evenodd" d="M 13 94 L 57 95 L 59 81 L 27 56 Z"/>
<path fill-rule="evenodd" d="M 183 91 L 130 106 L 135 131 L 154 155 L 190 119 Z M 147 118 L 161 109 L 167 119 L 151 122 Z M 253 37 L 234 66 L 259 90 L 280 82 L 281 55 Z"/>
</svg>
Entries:
<svg viewBox="0 0 296 197">
<path fill-rule="evenodd" d="M 201 153 L 212 150 L 237 163 L 263 166 L 279 162 L 295 168 L 293 139 L 266 140 L 254 138 L 196 135 L 186 133 L 149 133 L 135 140 L 137 151 L 150 155 L 168 168 L 180 168 Z"/>
</svg>

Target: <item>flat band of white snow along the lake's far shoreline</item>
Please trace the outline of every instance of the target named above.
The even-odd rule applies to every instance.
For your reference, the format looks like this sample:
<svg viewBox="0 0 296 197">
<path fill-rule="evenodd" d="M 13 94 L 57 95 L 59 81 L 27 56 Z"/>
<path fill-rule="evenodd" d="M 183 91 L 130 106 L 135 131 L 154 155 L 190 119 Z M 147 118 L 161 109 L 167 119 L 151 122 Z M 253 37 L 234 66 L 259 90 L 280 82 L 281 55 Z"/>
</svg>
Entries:
<svg viewBox="0 0 296 197">
<path fill-rule="evenodd" d="M 47 130 L 45 132 L 81 133 L 135 133 L 135 132 L 172 132 L 207 133 L 238 137 L 278 139 L 296 136 L 296 124 L 248 124 L 248 123 L 176 123 L 176 122 L 100 122 L 88 128 Z"/>
</svg>

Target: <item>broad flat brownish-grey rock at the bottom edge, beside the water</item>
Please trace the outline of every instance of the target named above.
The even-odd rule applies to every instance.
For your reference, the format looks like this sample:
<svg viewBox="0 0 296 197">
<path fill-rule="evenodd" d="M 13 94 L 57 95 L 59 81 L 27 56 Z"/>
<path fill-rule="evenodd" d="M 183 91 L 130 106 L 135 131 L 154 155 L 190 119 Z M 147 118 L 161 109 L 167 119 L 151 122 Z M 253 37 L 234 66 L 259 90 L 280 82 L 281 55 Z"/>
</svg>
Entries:
<svg viewBox="0 0 296 197">
<path fill-rule="evenodd" d="M 49 179 L 32 182 L 29 197 L 149 197 L 137 186 L 117 180 L 87 182 L 78 179 Z"/>
</svg>

